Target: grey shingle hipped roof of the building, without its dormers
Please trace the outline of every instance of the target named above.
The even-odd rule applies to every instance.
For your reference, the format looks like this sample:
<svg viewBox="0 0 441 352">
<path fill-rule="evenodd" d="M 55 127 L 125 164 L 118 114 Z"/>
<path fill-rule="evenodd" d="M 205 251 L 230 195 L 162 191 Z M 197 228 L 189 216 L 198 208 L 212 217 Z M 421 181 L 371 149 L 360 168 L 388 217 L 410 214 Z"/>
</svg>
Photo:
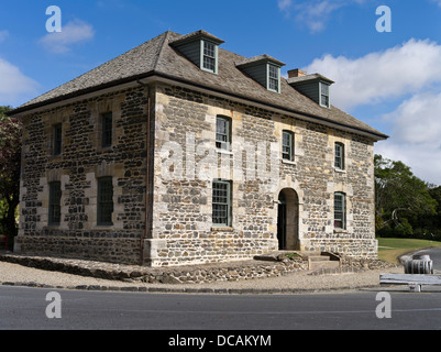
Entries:
<svg viewBox="0 0 441 352">
<path fill-rule="evenodd" d="M 165 32 L 117 58 L 22 105 L 13 110 L 12 114 L 54 101 L 73 98 L 91 90 L 98 90 L 111 85 L 156 74 L 198 85 L 210 90 L 269 105 L 286 111 L 302 113 L 318 120 L 350 127 L 373 134 L 377 139 L 387 138 L 387 135 L 333 106 L 330 109 L 320 107 L 289 86 L 285 78 L 282 79 L 280 94 L 268 91 L 236 67 L 238 63 L 245 63 L 249 59 L 229 51 L 219 48 L 218 75 L 201 70 L 180 54 L 178 50 L 169 45 L 169 43 L 183 37 L 183 35 L 170 31 Z"/>
</svg>

